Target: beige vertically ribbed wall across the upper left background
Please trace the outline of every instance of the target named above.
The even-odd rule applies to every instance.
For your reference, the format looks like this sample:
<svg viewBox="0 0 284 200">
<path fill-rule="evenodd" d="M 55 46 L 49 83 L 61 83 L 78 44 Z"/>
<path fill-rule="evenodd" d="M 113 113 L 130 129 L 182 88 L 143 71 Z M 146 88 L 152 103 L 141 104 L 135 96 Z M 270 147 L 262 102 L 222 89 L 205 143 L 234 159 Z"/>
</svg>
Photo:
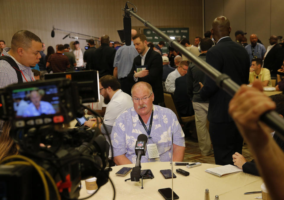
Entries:
<svg viewBox="0 0 284 200">
<path fill-rule="evenodd" d="M 71 44 L 74 39 L 62 40 L 68 32 L 55 30 L 51 38 L 52 26 L 62 30 L 78 32 L 95 37 L 109 35 L 110 40 L 118 40 L 117 30 L 123 29 L 123 11 L 125 0 L 11 0 L 1 1 L 0 40 L 7 46 L 19 30 L 30 30 L 38 35 L 47 46 Z M 157 27 L 188 27 L 189 40 L 203 36 L 202 1 L 180 0 L 132 0 L 137 14 Z M 143 24 L 132 17 L 133 28 L 143 28 Z M 72 34 L 78 38 L 86 38 Z M 87 43 L 79 40 L 81 48 Z M 70 45 L 72 48 L 72 45 Z"/>
</svg>

